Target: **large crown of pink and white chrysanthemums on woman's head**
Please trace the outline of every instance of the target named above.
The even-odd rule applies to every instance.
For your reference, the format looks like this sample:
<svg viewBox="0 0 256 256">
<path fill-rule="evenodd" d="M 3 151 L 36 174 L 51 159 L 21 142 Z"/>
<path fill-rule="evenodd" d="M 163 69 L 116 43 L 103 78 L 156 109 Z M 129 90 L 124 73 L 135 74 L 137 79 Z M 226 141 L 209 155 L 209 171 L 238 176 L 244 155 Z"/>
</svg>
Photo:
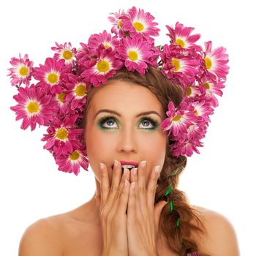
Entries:
<svg viewBox="0 0 256 256">
<path fill-rule="evenodd" d="M 83 129 L 79 124 L 86 109 L 86 94 L 91 86 L 105 84 L 116 70 L 126 67 L 131 72 L 144 75 L 148 66 L 159 67 L 162 75 L 178 83 L 184 97 L 177 108 L 169 102 L 167 117 L 161 128 L 168 132 L 173 157 L 193 151 L 206 135 L 209 116 L 218 106 L 215 94 L 222 96 L 228 55 L 223 47 L 212 50 L 211 41 L 205 42 L 205 50 L 196 45 L 200 34 L 192 34 L 194 28 L 176 23 L 167 27 L 170 43 L 154 45 L 159 35 L 158 23 L 149 12 L 132 7 L 127 12 L 110 13 L 113 23 L 111 33 L 103 31 L 91 34 L 88 43 L 81 42 L 78 50 L 70 42 L 52 47 L 56 53 L 45 59 L 45 64 L 33 67 L 33 61 L 13 57 L 10 61 L 12 86 L 18 88 L 13 98 L 18 105 L 11 107 L 16 120 L 23 119 L 21 129 L 37 124 L 48 127 L 43 148 L 53 154 L 59 170 L 78 175 L 80 166 L 89 167 Z M 31 84 L 31 78 L 37 80 Z M 22 87 L 22 84 L 25 86 Z"/>
</svg>

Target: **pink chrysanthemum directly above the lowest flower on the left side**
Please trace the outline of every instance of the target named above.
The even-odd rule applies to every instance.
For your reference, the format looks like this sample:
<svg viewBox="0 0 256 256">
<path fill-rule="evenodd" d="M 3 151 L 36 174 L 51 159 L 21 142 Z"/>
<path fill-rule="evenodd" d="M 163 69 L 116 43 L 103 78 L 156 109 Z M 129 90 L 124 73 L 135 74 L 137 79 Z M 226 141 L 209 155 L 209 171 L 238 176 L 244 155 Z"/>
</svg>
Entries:
<svg viewBox="0 0 256 256">
<path fill-rule="evenodd" d="M 54 151 L 58 155 L 72 153 L 74 148 L 79 144 L 78 136 L 83 133 L 83 129 L 76 129 L 75 121 L 77 116 L 66 116 L 63 121 L 56 116 L 53 119 L 53 124 L 48 127 L 47 135 L 41 139 L 47 141 L 44 148 L 50 152 Z"/>
</svg>

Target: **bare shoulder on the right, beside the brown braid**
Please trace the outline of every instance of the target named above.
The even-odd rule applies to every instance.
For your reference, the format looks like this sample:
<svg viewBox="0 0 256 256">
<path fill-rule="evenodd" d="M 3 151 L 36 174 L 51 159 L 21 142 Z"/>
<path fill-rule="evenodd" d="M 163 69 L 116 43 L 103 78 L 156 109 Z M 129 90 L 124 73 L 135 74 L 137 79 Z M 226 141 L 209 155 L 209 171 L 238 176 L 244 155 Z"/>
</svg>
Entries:
<svg viewBox="0 0 256 256">
<path fill-rule="evenodd" d="M 230 220 L 217 211 L 196 206 L 207 234 L 200 239 L 200 250 L 212 256 L 239 256 L 236 231 Z"/>
</svg>

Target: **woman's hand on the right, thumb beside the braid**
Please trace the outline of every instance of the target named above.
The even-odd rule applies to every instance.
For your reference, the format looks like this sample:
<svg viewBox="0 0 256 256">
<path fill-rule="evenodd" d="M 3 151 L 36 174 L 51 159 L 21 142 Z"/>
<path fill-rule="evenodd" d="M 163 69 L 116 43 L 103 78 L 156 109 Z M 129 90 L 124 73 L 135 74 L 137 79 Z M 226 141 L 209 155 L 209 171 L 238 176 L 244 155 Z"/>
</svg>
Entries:
<svg viewBox="0 0 256 256">
<path fill-rule="evenodd" d="M 159 172 L 156 167 L 146 187 L 146 165 L 141 162 L 137 174 L 134 169 L 130 173 L 129 200 L 127 206 L 127 236 L 129 256 L 157 256 L 157 238 L 159 217 L 167 203 L 160 201 L 154 206 Z M 132 182 L 135 188 L 132 189 Z"/>
</svg>

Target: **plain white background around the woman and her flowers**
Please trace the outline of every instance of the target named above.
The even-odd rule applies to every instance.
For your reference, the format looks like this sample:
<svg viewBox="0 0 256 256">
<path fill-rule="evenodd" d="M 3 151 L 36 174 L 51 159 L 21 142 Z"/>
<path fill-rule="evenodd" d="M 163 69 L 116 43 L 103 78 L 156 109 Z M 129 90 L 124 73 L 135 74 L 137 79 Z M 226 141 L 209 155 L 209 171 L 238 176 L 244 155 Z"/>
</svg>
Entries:
<svg viewBox="0 0 256 256">
<path fill-rule="evenodd" d="M 161 3 L 161 4 L 160 4 Z M 195 27 L 200 42 L 225 46 L 230 55 L 219 107 L 211 116 L 204 147 L 188 158 L 179 189 L 192 204 L 230 219 L 241 255 L 255 254 L 255 12 L 252 1 L 1 1 L 0 4 L 0 252 L 18 255 L 20 238 L 31 223 L 70 211 L 94 195 L 94 175 L 57 170 L 40 141 L 45 127 L 20 129 L 10 106 L 17 94 L 7 68 L 12 56 L 29 54 L 34 67 L 53 56 L 55 42 L 87 42 L 110 31 L 110 12 L 135 5 L 151 12 L 161 29 L 157 44 L 168 42 L 165 24 Z"/>
</svg>

